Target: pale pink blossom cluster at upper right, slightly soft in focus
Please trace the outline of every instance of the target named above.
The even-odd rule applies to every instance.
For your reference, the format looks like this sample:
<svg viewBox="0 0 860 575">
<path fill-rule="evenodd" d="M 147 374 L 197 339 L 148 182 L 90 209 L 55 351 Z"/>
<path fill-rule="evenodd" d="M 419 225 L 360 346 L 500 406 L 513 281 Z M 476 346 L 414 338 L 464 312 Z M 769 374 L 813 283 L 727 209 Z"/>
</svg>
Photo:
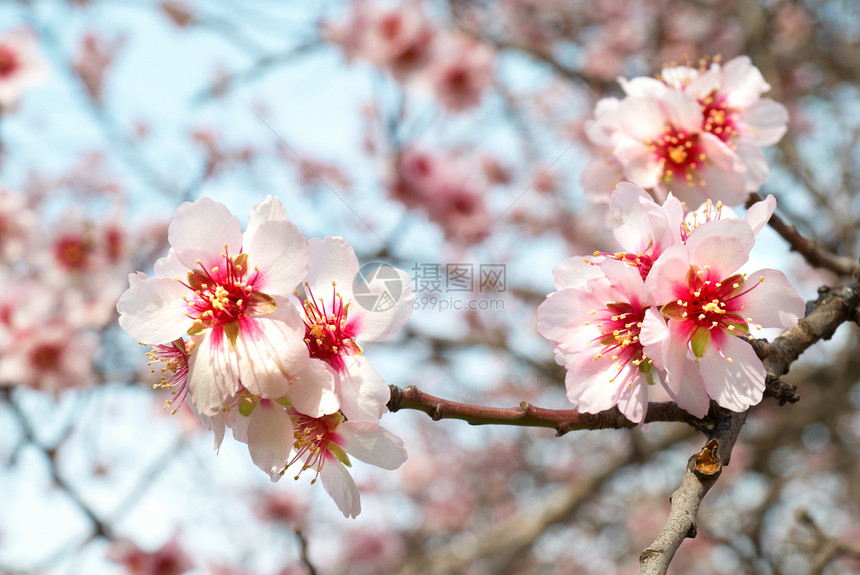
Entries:
<svg viewBox="0 0 860 575">
<path fill-rule="evenodd" d="M 581 183 L 595 199 L 622 180 L 665 198 L 743 203 L 768 174 L 761 147 L 785 133 L 788 112 L 749 58 L 621 78 L 626 97 L 597 103 L 588 137 L 597 154 Z"/>
</svg>

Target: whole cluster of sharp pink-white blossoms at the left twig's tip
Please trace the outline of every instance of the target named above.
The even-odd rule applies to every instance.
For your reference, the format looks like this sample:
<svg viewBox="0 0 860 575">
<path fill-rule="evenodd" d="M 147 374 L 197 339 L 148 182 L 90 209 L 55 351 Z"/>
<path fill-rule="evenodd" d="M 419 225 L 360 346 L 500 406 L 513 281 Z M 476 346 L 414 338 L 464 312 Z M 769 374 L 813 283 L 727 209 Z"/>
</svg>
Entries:
<svg viewBox="0 0 860 575">
<path fill-rule="evenodd" d="M 308 240 L 272 197 L 244 233 L 224 205 L 186 202 L 168 239 L 154 277 L 132 274 L 117 310 L 120 326 L 164 364 L 169 405 L 187 398 L 216 448 L 229 427 L 272 481 L 293 466 L 311 470 L 355 517 L 350 456 L 385 469 L 406 459 L 379 425 L 388 386 L 359 342 L 390 339 L 409 319 L 408 275 L 360 275 L 346 241 Z M 385 305 L 368 304 L 391 293 Z"/>
</svg>

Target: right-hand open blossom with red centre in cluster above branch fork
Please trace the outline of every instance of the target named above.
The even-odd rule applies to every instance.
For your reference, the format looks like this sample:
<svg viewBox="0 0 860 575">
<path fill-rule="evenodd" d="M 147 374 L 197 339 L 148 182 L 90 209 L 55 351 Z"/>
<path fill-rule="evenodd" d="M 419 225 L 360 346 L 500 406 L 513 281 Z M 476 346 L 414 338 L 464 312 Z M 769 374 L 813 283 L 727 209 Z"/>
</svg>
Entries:
<svg viewBox="0 0 860 575">
<path fill-rule="evenodd" d="M 664 252 L 645 282 L 651 301 L 662 305 L 661 314 L 644 322 L 646 353 L 666 369 L 670 389 L 678 392 L 683 381 L 699 404 L 710 397 L 742 411 L 758 403 L 766 374 L 743 338 L 752 329 L 792 327 L 803 316 L 803 299 L 782 272 L 738 273 L 754 241 L 743 220 L 704 223 Z M 690 358 L 700 383 L 685 374 Z"/>
</svg>

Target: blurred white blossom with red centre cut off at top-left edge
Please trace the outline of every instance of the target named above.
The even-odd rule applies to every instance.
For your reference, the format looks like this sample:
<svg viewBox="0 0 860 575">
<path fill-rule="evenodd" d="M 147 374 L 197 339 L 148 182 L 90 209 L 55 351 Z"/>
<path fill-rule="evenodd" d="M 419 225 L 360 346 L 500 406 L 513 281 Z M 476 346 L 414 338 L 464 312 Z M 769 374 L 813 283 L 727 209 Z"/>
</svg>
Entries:
<svg viewBox="0 0 860 575">
<path fill-rule="evenodd" d="M 47 72 L 30 31 L 13 30 L 0 38 L 0 112 L 17 104 L 21 93 L 42 82 Z"/>
</svg>

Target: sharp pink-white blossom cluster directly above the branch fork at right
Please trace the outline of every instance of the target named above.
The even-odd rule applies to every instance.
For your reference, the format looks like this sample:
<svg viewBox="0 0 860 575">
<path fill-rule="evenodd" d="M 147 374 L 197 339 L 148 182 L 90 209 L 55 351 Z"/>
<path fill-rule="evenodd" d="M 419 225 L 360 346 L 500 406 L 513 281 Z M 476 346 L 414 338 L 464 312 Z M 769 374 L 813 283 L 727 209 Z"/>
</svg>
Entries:
<svg viewBox="0 0 860 575">
<path fill-rule="evenodd" d="M 538 331 L 555 344 L 581 411 L 617 405 L 644 421 L 649 401 L 671 399 L 696 417 L 710 400 L 742 411 L 761 400 L 765 369 L 746 338 L 789 328 L 804 302 L 782 272 L 739 270 L 776 208 L 768 196 L 738 218 L 719 202 L 684 215 L 619 184 L 610 197 L 622 251 L 570 258 L 538 308 Z"/>
</svg>

